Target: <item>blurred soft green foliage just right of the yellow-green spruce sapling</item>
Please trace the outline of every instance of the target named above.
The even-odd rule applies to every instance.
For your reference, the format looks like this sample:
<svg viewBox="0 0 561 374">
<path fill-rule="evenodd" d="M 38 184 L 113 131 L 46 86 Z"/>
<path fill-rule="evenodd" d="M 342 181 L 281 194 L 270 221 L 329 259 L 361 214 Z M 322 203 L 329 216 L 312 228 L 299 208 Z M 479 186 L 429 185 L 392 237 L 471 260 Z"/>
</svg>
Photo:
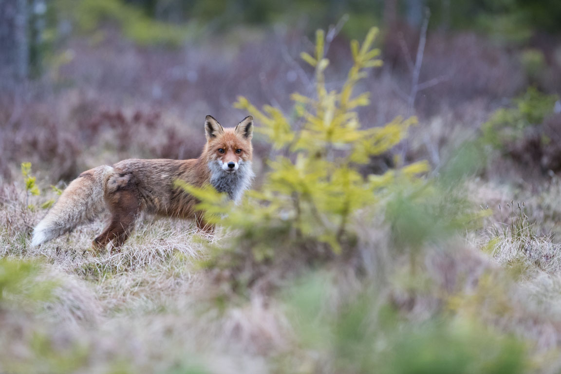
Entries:
<svg viewBox="0 0 561 374">
<path fill-rule="evenodd" d="M 432 178 L 403 180 L 388 188 L 384 212 L 394 250 L 408 253 L 414 262 L 426 244 L 480 228 L 490 211 L 475 209 L 463 184 L 484 165 L 481 144 L 465 142 L 450 151 Z"/>
</svg>

